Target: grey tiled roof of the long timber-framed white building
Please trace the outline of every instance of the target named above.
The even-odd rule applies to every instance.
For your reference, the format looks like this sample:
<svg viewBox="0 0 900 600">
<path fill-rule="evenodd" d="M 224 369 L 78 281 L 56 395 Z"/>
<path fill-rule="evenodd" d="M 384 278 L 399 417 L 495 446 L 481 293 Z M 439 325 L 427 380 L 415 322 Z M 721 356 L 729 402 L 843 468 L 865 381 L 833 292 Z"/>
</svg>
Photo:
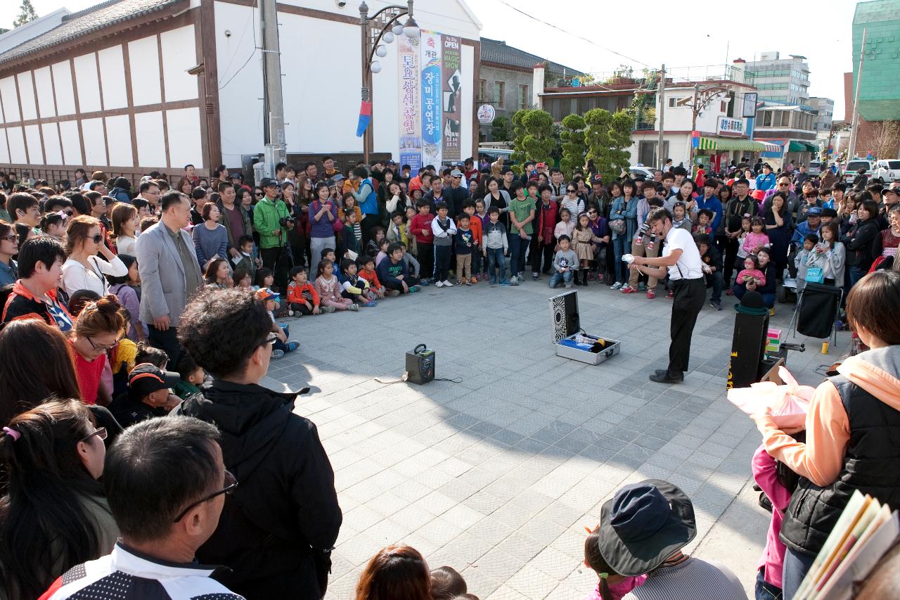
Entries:
<svg viewBox="0 0 900 600">
<path fill-rule="evenodd" d="M 178 0 L 108 0 L 78 13 L 67 15 L 58 27 L 25 41 L 0 54 L 0 64 L 21 59 L 29 54 L 58 46 L 89 33 L 102 30 L 115 23 L 128 21 L 175 4 Z"/>
</svg>

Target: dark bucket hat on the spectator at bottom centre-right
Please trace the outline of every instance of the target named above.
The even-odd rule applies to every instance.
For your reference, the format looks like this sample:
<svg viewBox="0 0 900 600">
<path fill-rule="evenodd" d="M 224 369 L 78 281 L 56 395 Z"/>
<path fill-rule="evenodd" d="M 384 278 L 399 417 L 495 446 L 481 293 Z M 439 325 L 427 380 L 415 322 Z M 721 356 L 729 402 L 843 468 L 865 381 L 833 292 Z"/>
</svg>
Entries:
<svg viewBox="0 0 900 600">
<path fill-rule="evenodd" d="M 690 498 L 662 479 L 622 487 L 600 511 L 600 554 L 626 577 L 649 573 L 696 535 Z"/>
</svg>

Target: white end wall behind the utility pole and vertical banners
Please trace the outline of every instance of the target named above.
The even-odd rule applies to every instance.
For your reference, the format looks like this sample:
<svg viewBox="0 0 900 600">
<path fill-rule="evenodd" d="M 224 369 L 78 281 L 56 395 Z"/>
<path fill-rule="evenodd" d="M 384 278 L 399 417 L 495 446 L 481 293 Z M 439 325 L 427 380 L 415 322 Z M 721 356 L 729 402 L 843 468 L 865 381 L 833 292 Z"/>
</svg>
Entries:
<svg viewBox="0 0 900 600">
<path fill-rule="evenodd" d="M 338 8 L 333 0 L 288 0 L 302 6 L 358 19 L 356 5 Z M 374 0 L 369 14 L 387 3 Z M 254 32 L 259 38 L 258 9 L 215 3 L 216 51 L 219 66 L 222 161 L 240 164 L 243 154 L 257 154 L 264 146 L 262 70 Z M 478 40 L 480 23 L 460 2 L 418 0 L 415 18 L 424 30 Z M 356 137 L 361 86 L 360 31 L 357 23 L 341 23 L 311 16 L 279 13 L 282 56 L 282 90 L 287 151 L 360 152 Z M 218 23 L 234 23 L 228 27 Z M 239 24 L 238 24 L 239 23 Z M 228 30 L 230 35 L 226 36 Z M 396 42 L 388 44 L 387 56 L 379 59 L 382 72 L 373 76 L 374 151 L 400 154 L 399 65 Z M 304 57 L 309 57 L 305 59 Z M 247 59 L 249 61 L 247 62 Z M 238 77 L 231 80 L 238 69 Z M 474 51 L 463 46 L 464 73 L 461 136 L 463 158 L 473 143 Z"/>
</svg>

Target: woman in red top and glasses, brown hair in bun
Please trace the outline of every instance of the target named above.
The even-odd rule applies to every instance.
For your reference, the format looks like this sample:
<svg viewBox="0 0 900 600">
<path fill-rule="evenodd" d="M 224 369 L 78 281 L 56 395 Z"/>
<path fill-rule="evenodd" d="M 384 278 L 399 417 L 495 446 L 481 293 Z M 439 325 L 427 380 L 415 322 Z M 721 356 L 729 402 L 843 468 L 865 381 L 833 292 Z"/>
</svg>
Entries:
<svg viewBox="0 0 900 600">
<path fill-rule="evenodd" d="M 110 294 L 86 305 L 72 328 L 70 343 L 75 350 L 75 370 L 85 405 L 108 406 L 112 389 L 103 382 L 106 353 L 121 340 L 127 321 L 119 298 Z"/>
</svg>

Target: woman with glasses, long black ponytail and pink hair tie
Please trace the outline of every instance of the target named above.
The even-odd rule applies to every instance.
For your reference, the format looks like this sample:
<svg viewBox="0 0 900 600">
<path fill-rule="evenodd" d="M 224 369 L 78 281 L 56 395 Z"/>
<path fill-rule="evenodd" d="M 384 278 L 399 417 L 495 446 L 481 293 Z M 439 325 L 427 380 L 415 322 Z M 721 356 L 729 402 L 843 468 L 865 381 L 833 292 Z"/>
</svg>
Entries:
<svg viewBox="0 0 900 600">
<path fill-rule="evenodd" d="M 56 577 L 112 551 L 119 528 L 97 479 L 105 428 L 77 400 L 52 400 L 0 432 L 0 595 L 36 598 Z"/>
</svg>

